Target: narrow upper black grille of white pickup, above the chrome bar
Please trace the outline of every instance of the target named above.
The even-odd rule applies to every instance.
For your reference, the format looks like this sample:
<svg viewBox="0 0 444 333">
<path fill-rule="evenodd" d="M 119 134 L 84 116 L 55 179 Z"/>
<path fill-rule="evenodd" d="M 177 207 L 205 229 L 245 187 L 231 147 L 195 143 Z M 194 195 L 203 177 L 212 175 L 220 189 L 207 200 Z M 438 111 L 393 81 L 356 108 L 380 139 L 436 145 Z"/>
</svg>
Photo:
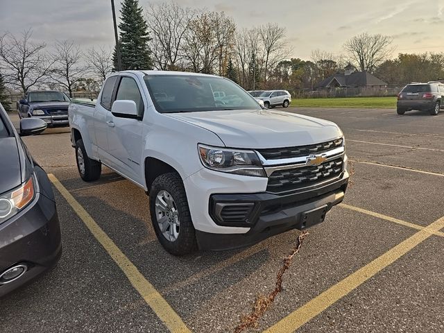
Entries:
<svg viewBox="0 0 444 333">
<path fill-rule="evenodd" d="M 331 149 L 342 146 L 343 139 L 336 139 L 322 144 L 310 144 L 309 146 L 287 147 L 287 148 L 268 148 L 258 149 L 257 151 L 266 160 L 281 160 L 284 158 L 304 157 L 310 154 L 323 153 Z"/>
</svg>

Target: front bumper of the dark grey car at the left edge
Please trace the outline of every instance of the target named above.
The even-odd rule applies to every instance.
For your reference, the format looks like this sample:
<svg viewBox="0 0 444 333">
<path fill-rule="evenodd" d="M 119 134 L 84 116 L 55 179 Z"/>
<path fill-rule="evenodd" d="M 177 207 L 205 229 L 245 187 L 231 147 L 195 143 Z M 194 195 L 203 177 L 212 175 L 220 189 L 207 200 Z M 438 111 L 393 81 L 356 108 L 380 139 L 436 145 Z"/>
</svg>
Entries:
<svg viewBox="0 0 444 333">
<path fill-rule="evenodd" d="M 0 297 L 47 271 L 62 253 L 51 183 L 40 167 L 35 167 L 35 176 L 39 188 L 33 202 L 0 225 L 0 273 L 16 264 L 28 266 L 17 280 L 0 284 Z"/>
</svg>

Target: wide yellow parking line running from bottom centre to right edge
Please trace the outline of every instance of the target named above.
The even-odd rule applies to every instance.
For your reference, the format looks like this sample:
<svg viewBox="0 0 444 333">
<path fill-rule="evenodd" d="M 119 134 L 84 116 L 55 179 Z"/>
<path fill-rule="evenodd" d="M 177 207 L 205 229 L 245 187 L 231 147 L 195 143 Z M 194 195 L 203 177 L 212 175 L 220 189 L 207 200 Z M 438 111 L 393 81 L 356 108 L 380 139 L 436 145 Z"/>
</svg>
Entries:
<svg viewBox="0 0 444 333">
<path fill-rule="evenodd" d="M 311 321 L 314 317 L 321 314 L 322 311 L 333 305 L 351 291 L 355 290 L 368 279 L 375 276 L 388 265 L 393 264 L 397 259 L 408 253 L 410 250 L 418 246 L 422 241 L 425 241 L 435 232 L 444 228 L 444 217 L 438 219 L 434 223 L 428 225 L 424 229 L 416 232 L 413 236 L 405 241 L 402 241 L 397 246 L 391 248 L 383 255 L 377 257 L 373 262 L 360 268 L 355 273 L 348 275 L 344 280 L 334 284 L 321 295 L 316 296 L 302 307 L 296 309 L 287 317 L 271 326 L 266 330 L 266 333 L 288 333 L 298 330 L 299 327 Z"/>
</svg>

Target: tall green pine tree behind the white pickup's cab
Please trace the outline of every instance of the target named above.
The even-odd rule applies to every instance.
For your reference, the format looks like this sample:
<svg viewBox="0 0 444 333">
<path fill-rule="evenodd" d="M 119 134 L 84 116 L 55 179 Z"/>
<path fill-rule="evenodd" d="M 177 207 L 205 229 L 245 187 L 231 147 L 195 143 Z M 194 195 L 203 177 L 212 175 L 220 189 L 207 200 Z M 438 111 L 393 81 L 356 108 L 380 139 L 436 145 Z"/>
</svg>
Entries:
<svg viewBox="0 0 444 333">
<path fill-rule="evenodd" d="M 122 70 L 152 69 L 153 60 L 148 42 L 151 40 L 142 7 L 138 0 L 123 0 L 121 22 L 119 23 L 119 44 Z M 114 68 L 117 69 L 117 56 L 114 50 Z"/>
</svg>

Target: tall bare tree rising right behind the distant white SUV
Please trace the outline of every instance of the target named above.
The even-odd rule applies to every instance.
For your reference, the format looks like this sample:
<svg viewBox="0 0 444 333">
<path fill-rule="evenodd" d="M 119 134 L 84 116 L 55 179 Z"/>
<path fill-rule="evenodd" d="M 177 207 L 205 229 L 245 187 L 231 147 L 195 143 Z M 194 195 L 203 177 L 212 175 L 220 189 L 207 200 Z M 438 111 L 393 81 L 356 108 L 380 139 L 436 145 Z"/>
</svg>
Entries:
<svg viewBox="0 0 444 333">
<path fill-rule="evenodd" d="M 268 23 L 259 28 L 259 35 L 264 47 L 264 85 L 269 67 L 277 65 L 286 58 L 288 51 L 285 49 L 285 28 L 278 24 Z"/>
</svg>

